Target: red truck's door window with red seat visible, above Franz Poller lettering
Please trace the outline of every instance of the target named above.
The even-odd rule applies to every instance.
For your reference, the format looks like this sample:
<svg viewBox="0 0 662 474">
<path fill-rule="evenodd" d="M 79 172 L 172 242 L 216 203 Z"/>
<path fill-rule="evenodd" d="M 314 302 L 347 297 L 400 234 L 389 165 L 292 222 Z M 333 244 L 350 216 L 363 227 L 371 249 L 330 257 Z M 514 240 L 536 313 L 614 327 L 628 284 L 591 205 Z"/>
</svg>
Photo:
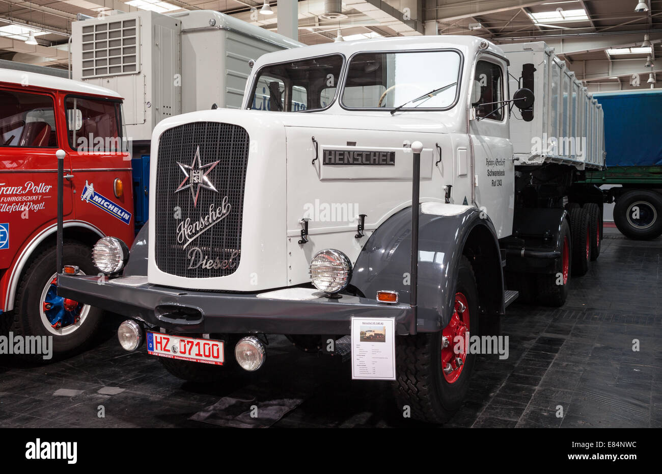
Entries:
<svg viewBox="0 0 662 474">
<path fill-rule="evenodd" d="M 57 148 L 53 99 L 0 91 L 0 147 Z"/>
</svg>

